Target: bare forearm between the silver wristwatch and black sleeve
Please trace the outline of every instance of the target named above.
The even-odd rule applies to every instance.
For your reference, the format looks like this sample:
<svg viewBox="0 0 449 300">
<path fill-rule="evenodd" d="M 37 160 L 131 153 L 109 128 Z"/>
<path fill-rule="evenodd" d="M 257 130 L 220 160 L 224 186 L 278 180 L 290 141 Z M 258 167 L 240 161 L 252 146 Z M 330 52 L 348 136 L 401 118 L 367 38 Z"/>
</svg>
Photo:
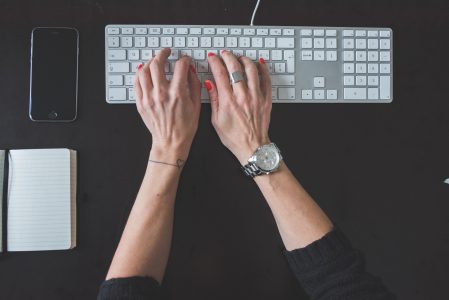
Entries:
<svg viewBox="0 0 449 300">
<path fill-rule="evenodd" d="M 332 223 L 282 162 L 277 172 L 255 182 L 273 212 L 287 250 L 303 248 L 323 237 Z"/>
</svg>

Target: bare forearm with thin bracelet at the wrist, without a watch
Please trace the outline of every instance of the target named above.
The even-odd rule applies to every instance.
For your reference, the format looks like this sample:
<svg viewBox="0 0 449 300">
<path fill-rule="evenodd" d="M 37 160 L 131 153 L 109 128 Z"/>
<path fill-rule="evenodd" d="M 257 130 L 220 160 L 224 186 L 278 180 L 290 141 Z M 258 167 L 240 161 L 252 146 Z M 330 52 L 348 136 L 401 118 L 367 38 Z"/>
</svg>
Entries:
<svg viewBox="0 0 449 300">
<path fill-rule="evenodd" d="M 150 160 L 176 164 L 179 157 L 152 153 Z M 107 279 L 149 276 L 159 283 L 167 264 L 172 230 L 174 200 L 182 166 L 149 162 L 114 255 Z"/>
</svg>

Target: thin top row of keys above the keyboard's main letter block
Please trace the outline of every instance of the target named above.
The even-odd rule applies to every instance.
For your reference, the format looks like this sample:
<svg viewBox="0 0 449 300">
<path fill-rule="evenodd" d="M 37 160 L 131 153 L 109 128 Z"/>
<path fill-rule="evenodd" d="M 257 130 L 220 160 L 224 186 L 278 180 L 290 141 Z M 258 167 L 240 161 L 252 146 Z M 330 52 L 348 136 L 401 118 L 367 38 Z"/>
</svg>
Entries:
<svg viewBox="0 0 449 300">
<path fill-rule="evenodd" d="M 293 28 L 227 28 L 227 27 L 108 27 L 107 32 L 109 35 L 130 35 L 130 34 L 185 34 L 185 35 L 295 35 L 295 29 Z"/>
</svg>

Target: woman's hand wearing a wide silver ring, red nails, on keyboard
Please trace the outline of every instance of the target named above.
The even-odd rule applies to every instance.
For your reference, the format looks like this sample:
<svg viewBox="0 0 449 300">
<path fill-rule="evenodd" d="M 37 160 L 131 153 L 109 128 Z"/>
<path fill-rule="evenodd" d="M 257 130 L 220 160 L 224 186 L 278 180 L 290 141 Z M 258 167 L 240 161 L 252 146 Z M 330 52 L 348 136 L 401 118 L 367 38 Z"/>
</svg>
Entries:
<svg viewBox="0 0 449 300">
<path fill-rule="evenodd" d="M 237 59 L 226 50 L 221 56 L 223 61 L 208 54 L 216 82 L 205 82 L 211 99 L 212 125 L 221 142 L 244 165 L 257 147 L 270 142 L 270 75 L 263 59 L 256 64 L 244 56 Z M 243 72 L 246 80 L 231 85 L 229 74 L 235 71 Z"/>
</svg>

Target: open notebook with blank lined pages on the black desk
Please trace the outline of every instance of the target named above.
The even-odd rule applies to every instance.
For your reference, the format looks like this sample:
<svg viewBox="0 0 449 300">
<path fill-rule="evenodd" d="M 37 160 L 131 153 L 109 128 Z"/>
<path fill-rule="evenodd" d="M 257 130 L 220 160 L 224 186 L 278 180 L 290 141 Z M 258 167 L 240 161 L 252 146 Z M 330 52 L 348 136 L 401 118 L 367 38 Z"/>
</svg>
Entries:
<svg viewBox="0 0 449 300">
<path fill-rule="evenodd" d="M 2 251 L 76 246 L 76 151 L 0 150 L 0 174 Z"/>
</svg>

